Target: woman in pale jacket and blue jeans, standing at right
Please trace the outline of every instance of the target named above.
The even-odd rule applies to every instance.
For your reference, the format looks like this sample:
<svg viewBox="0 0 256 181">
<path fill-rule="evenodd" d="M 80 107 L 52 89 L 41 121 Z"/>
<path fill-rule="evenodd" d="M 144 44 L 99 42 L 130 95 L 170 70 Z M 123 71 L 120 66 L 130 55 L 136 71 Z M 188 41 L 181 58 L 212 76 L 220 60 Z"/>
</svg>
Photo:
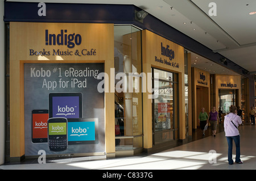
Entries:
<svg viewBox="0 0 256 181">
<path fill-rule="evenodd" d="M 240 133 L 238 131 L 238 125 L 242 124 L 242 120 L 237 115 L 236 106 L 229 107 L 229 114 L 224 118 L 224 131 L 226 140 L 228 141 L 228 162 L 229 165 L 234 163 L 232 159 L 233 140 L 236 144 L 236 163 L 243 163 L 240 159 Z"/>
</svg>

